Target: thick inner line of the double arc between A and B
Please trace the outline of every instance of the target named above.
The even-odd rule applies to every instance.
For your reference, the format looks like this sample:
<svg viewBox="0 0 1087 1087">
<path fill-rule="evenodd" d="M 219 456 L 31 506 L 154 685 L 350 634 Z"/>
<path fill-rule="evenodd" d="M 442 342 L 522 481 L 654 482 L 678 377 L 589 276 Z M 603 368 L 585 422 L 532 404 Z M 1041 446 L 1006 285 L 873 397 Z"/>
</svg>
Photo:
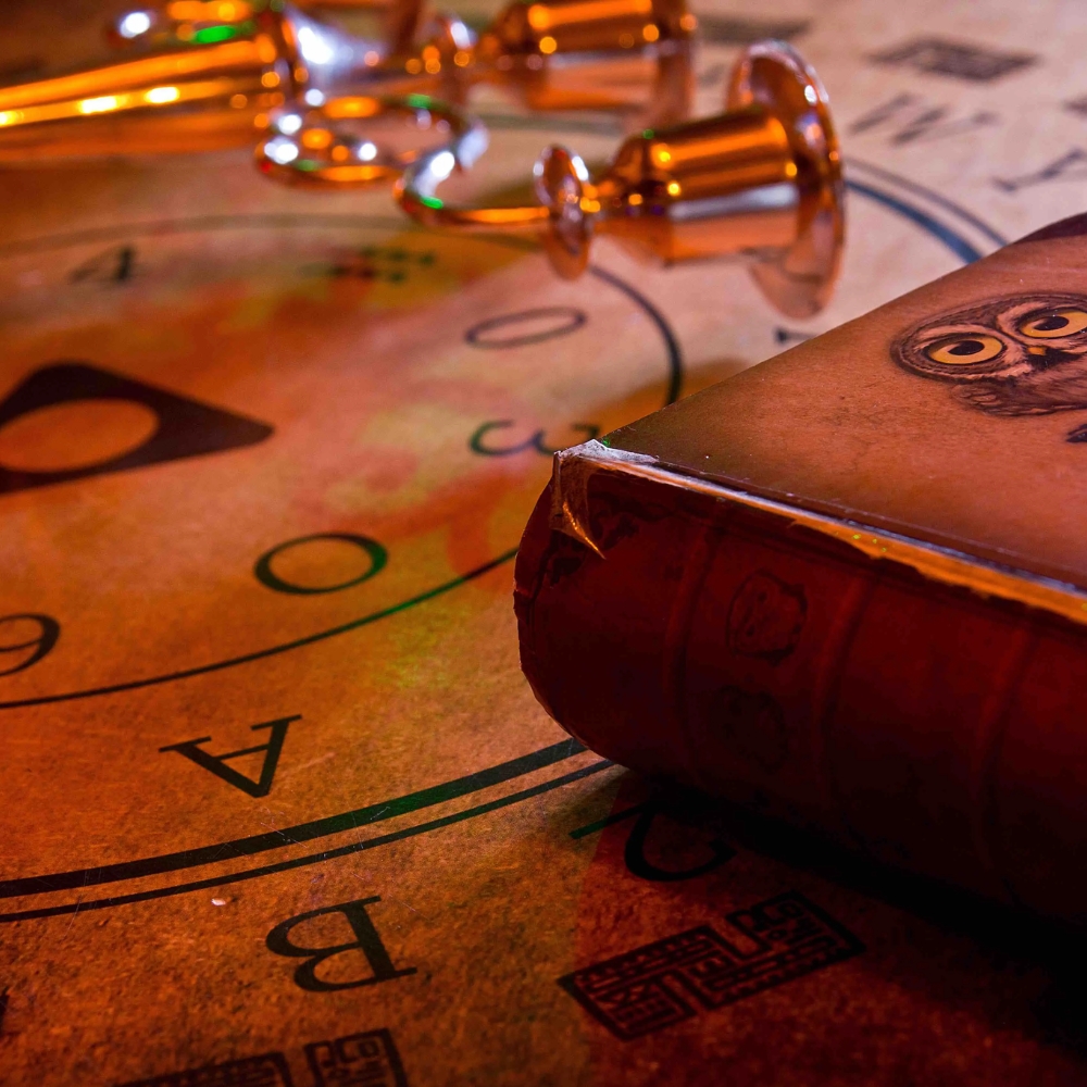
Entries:
<svg viewBox="0 0 1087 1087">
<path fill-rule="evenodd" d="M 284 827 L 282 830 L 267 830 L 264 834 L 235 838 L 232 841 L 220 841 L 211 846 L 178 850 L 174 853 L 145 857 L 138 861 L 121 861 L 116 864 L 103 864 L 93 869 L 76 869 L 71 872 L 54 872 L 45 876 L 21 876 L 15 879 L 4 879 L 0 882 L 0 898 L 45 895 L 57 890 L 72 890 L 74 887 L 95 887 L 124 879 L 139 879 L 143 876 L 180 872 L 184 869 L 196 869 L 204 864 L 218 864 L 223 861 L 237 860 L 240 857 L 266 853 L 271 849 L 297 846 L 303 841 L 326 838 L 343 830 L 355 830 L 372 823 L 384 823 L 386 820 L 407 815 L 423 808 L 443 804 L 449 800 L 457 800 L 460 797 L 489 789 L 493 785 L 524 777 L 526 774 L 542 770 L 545 766 L 553 766 L 555 763 L 572 759 L 585 750 L 585 746 L 575 739 L 560 740 L 550 747 L 518 755 L 508 762 L 500 762 L 486 770 L 477 770 L 474 774 L 454 777 L 451 782 L 443 782 L 441 785 L 432 785 L 429 788 L 420 789 L 416 792 L 408 792 L 376 804 L 366 804 L 365 808 L 355 808 L 353 811 L 340 812 L 338 815 L 326 815 L 324 819 L 313 820 L 310 823 L 299 823 L 297 826 Z"/>
</svg>

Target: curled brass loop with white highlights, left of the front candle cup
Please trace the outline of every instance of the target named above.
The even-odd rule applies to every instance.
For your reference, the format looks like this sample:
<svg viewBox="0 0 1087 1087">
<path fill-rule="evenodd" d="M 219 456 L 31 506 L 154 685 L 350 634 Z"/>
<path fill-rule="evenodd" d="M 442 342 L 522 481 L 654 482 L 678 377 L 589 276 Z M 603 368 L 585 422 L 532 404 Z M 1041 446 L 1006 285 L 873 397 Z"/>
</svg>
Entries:
<svg viewBox="0 0 1087 1087">
<path fill-rule="evenodd" d="M 417 128 L 436 129 L 443 139 L 427 151 L 396 151 L 342 127 L 345 121 L 391 114 L 410 116 Z M 254 152 L 258 167 L 293 185 L 373 185 L 399 177 L 422 159 L 437 160 L 450 172 L 464 170 L 487 148 L 487 129 L 480 121 L 425 95 L 342 95 L 314 109 L 280 110 L 272 115 L 268 130 Z"/>
</svg>

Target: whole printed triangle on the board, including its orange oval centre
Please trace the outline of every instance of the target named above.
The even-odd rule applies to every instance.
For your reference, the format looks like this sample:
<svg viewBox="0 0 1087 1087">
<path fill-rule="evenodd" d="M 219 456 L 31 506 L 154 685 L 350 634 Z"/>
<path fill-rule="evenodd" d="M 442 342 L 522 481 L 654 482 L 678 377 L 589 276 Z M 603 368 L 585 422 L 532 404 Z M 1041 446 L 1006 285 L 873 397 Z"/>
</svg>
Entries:
<svg viewBox="0 0 1087 1087">
<path fill-rule="evenodd" d="M 0 495 L 238 449 L 272 433 L 85 362 L 58 362 L 0 402 Z"/>
</svg>

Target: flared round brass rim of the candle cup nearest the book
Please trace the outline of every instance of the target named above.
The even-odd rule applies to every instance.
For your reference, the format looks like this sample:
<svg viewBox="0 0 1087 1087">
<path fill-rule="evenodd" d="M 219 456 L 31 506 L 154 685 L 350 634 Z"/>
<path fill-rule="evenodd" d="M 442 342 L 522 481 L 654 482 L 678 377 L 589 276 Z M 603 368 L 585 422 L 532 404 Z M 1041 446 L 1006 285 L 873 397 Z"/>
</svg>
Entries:
<svg viewBox="0 0 1087 1087">
<path fill-rule="evenodd" d="M 751 274 L 791 317 L 810 317 L 829 301 L 846 239 L 841 152 L 830 103 L 815 71 L 784 41 L 747 49 L 733 71 L 725 105 L 758 107 L 785 128 L 797 163 L 798 230 L 784 252 L 757 257 Z"/>
</svg>

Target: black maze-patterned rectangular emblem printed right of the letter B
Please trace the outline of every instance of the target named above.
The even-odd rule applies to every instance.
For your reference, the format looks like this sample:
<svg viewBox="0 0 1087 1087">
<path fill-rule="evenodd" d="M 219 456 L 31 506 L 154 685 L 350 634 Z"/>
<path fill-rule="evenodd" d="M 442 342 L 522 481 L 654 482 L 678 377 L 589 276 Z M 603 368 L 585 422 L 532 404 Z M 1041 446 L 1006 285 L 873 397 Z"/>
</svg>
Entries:
<svg viewBox="0 0 1087 1087">
<path fill-rule="evenodd" d="M 841 962 L 864 945 L 791 891 L 567 974 L 559 984 L 616 1037 L 639 1038 Z"/>
</svg>

